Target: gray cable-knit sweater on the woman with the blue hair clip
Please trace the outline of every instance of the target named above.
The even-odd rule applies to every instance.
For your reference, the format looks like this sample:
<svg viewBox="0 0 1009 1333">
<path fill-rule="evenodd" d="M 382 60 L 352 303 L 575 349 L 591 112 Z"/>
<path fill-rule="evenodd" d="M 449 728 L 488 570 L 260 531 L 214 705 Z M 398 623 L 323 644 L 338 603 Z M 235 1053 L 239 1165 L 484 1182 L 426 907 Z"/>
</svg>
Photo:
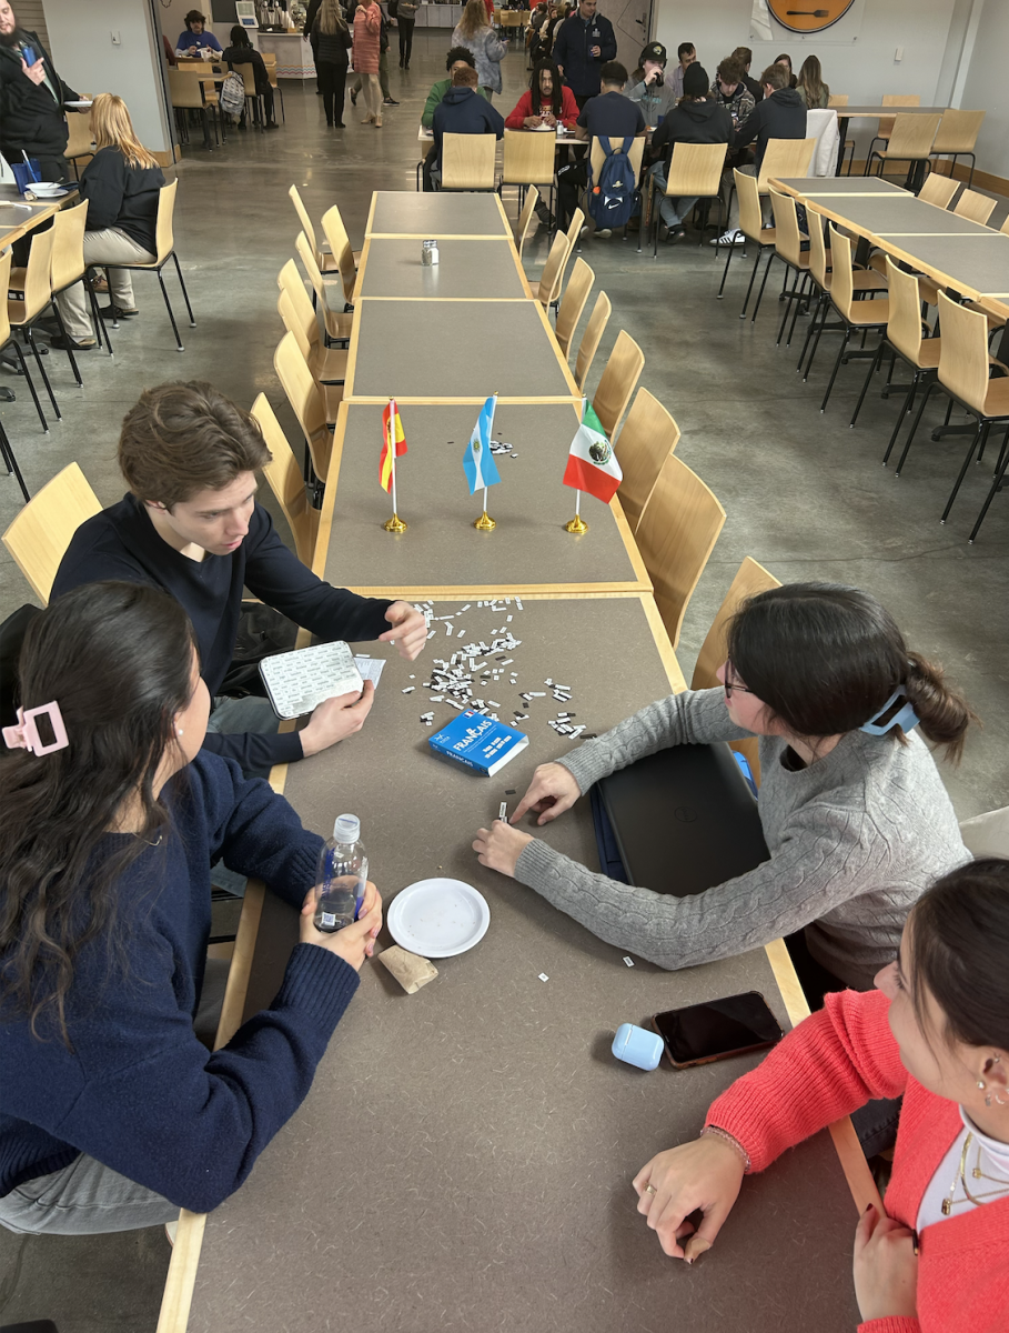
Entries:
<svg viewBox="0 0 1009 1333">
<path fill-rule="evenodd" d="M 560 762 L 584 793 L 667 745 L 748 734 L 729 720 L 721 689 L 687 690 L 650 704 Z M 515 878 L 600 940 L 660 968 L 727 958 L 804 926 L 823 966 L 869 989 L 876 972 L 893 961 L 917 897 L 970 856 L 917 733 L 901 745 L 892 736 L 849 732 L 797 772 L 783 764 L 787 749 L 781 737 L 760 737 L 757 808 L 771 860 L 747 874 L 678 898 L 594 874 L 534 838 Z M 674 893 L 675 877 L 670 865 Z"/>
</svg>

